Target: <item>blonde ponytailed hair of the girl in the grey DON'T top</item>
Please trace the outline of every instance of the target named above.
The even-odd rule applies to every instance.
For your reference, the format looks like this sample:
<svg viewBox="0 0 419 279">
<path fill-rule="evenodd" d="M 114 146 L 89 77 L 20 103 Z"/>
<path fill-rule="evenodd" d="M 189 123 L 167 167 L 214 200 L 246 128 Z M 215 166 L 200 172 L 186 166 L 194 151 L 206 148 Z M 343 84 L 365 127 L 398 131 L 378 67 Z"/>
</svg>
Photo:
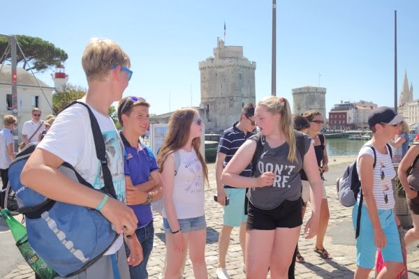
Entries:
<svg viewBox="0 0 419 279">
<path fill-rule="evenodd" d="M 298 162 L 296 156 L 297 145 L 294 135 L 294 121 L 293 117 L 291 116 L 291 108 L 288 100 L 286 100 L 284 97 L 278 98 L 275 96 L 270 96 L 260 100 L 258 105 L 266 107 L 267 112 L 281 115 L 281 123 L 279 123 L 279 128 L 284 133 L 285 140 L 290 146 L 287 159 L 290 162 Z"/>
</svg>

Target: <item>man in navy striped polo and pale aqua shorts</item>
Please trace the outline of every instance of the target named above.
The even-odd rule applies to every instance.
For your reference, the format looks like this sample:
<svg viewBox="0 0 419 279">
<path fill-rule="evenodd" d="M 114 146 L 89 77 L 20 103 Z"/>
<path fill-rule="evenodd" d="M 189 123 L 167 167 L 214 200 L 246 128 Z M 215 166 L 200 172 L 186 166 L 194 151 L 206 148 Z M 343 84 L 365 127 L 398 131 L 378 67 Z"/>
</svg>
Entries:
<svg viewBox="0 0 419 279">
<path fill-rule="evenodd" d="M 249 138 L 254 135 L 255 123 L 255 107 L 253 104 L 247 104 L 242 109 L 240 121 L 233 124 L 233 127 L 228 128 L 221 135 L 221 140 L 216 154 L 216 193 L 219 204 L 223 206 L 223 227 L 219 235 L 219 265 L 216 270 L 216 276 L 219 279 L 228 279 L 226 271 L 226 255 L 228 245 L 230 244 L 230 234 L 233 227 L 240 227 L 240 246 L 242 246 L 243 254 L 243 271 L 246 271 L 244 266 L 244 243 L 246 239 L 246 221 L 247 213 L 245 213 L 246 188 L 234 188 L 221 183 L 221 173 L 226 167 L 231 158 L 233 158 L 237 149 Z M 249 177 L 251 175 L 251 165 L 249 165 L 240 174 L 241 176 Z M 226 197 L 229 198 L 229 204 L 226 206 Z"/>
</svg>

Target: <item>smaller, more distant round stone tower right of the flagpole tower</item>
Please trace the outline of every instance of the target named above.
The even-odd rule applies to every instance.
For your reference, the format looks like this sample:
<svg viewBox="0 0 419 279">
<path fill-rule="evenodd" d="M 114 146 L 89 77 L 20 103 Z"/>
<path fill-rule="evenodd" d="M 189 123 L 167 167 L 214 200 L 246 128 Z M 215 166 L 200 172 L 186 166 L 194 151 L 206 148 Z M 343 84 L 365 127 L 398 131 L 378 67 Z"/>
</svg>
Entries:
<svg viewBox="0 0 419 279">
<path fill-rule="evenodd" d="M 293 114 L 303 114 L 308 110 L 321 112 L 326 119 L 326 89 L 324 87 L 304 86 L 293 89 Z"/>
</svg>

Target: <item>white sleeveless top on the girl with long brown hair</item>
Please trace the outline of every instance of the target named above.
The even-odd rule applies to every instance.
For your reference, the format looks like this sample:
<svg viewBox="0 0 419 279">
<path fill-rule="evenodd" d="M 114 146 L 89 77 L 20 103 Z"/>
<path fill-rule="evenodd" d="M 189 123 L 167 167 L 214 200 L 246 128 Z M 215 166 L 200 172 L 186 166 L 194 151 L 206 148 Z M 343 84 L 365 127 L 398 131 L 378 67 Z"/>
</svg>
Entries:
<svg viewBox="0 0 419 279">
<path fill-rule="evenodd" d="M 175 157 L 173 154 L 171 156 Z M 173 183 L 173 204 L 177 219 L 196 218 L 205 215 L 204 173 L 194 149 L 179 149 L 180 165 Z M 164 218 L 167 218 L 163 209 Z"/>
</svg>

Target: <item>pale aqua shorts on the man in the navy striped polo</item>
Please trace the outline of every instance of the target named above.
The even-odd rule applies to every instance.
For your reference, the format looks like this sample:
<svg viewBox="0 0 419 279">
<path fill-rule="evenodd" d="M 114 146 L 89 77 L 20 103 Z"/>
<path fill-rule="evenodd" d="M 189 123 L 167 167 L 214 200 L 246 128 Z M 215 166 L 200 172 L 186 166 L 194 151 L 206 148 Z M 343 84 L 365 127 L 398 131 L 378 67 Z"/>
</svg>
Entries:
<svg viewBox="0 0 419 279">
<path fill-rule="evenodd" d="M 224 191 L 229 203 L 228 206 L 223 206 L 223 225 L 240 227 L 247 221 L 247 215 L 244 214 L 246 188 L 224 188 Z"/>
</svg>

